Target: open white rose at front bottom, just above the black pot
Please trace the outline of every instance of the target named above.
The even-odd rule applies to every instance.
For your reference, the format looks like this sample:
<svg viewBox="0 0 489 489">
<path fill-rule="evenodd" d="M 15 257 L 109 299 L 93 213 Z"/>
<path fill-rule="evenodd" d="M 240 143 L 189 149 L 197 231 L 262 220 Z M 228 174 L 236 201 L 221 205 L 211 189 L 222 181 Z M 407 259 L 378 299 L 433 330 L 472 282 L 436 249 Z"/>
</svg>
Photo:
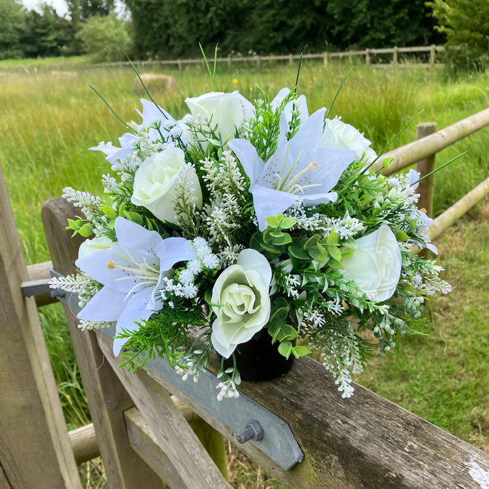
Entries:
<svg viewBox="0 0 489 489">
<path fill-rule="evenodd" d="M 211 341 L 216 352 L 229 358 L 240 343 L 252 339 L 270 318 L 268 260 L 254 249 L 244 249 L 237 264 L 229 266 L 215 281 L 212 291 Z"/>
</svg>

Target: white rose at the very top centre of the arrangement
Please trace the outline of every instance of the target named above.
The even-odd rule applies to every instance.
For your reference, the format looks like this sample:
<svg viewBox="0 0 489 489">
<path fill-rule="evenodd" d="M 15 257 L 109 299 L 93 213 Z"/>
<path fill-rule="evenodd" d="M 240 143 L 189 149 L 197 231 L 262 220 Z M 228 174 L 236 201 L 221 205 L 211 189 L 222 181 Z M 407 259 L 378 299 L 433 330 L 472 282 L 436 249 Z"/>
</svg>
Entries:
<svg viewBox="0 0 489 489">
<path fill-rule="evenodd" d="M 253 109 L 252 103 L 237 91 L 232 94 L 211 91 L 186 99 L 185 102 L 194 118 L 207 118 L 213 129 L 217 125 L 216 135 L 220 136 L 222 142 L 227 142 L 235 136 L 236 130 L 239 130 Z"/>
</svg>

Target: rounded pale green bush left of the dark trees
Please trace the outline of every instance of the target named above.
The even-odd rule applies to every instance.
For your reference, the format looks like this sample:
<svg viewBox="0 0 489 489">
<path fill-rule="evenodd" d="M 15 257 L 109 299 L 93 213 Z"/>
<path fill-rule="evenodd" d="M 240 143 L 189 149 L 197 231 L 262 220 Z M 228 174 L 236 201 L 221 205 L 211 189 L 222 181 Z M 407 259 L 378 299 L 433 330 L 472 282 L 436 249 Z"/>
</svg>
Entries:
<svg viewBox="0 0 489 489">
<path fill-rule="evenodd" d="M 131 43 L 125 22 L 116 16 L 90 17 L 76 37 L 94 62 L 120 61 L 130 53 Z"/>
</svg>

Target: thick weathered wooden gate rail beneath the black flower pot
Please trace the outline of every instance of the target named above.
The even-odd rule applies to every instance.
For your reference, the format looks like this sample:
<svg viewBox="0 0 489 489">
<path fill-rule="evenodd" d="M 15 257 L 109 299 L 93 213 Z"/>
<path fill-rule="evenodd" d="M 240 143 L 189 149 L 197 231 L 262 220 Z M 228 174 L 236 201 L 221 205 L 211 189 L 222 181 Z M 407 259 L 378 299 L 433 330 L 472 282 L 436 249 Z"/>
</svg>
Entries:
<svg viewBox="0 0 489 489">
<path fill-rule="evenodd" d="M 236 444 L 235 433 L 213 413 L 145 370 Z M 283 471 L 256 446 L 238 448 L 288 488 L 477 488 L 466 463 L 476 457 L 488 470 L 488 454 L 366 388 L 354 388 L 352 398 L 342 399 L 330 374 L 307 357 L 274 381 L 243 382 L 242 392 L 288 422 L 305 459 Z M 232 410 L 232 399 L 222 402 Z"/>
</svg>

